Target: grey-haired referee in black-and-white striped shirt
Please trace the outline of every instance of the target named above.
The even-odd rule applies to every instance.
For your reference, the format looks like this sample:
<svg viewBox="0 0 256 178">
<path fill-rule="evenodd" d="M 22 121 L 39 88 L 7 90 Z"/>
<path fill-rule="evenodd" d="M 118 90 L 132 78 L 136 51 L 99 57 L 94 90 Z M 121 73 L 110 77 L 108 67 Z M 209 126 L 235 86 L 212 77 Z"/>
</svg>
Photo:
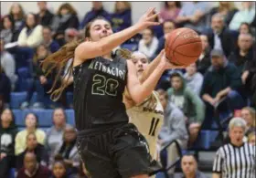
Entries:
<svg viewBox="0 0 256 178">
<path fill-rule="evenodd" d="M 230 142 L 221 146 L 213 163 L 212 178 L 255 178 L 255 146 L 243 141 L 245 120 L 229 122 Z"/>
</svg>

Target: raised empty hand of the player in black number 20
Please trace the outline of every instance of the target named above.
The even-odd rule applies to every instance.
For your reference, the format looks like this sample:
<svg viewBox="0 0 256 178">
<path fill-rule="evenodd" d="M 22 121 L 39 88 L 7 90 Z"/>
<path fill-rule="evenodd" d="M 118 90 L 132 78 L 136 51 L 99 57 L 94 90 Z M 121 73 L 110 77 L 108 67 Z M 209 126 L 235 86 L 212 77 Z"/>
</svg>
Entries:
<svg viewBox="0 0 256 178">
<path fill-rule="evenodd" d="M 158 26 L 159 22 L 155 22 L 155 17 L 158 16 L 159 13 L 155 13 L 155 7 L 149 8 L 143 16 L 137 22 L 137 25 L 141 30 L 144 30 L 148 26 Z"/>
</svg>

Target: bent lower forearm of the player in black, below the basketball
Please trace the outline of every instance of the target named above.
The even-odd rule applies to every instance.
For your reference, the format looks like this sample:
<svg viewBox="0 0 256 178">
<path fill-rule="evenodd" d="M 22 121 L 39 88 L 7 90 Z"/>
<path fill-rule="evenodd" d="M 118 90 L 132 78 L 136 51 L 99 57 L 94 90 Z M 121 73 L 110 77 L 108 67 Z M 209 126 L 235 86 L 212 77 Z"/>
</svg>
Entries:
<svg viewBox="0 0 256 178">
<path fill-rule="evenodd" d="M 136 103 L 141 103 L 146 99 L 149 95 L 151 95 L 152 91 L 155 89 L 155 86 L 158 80 L 161 78 L 163 72 L 165 71 L 165 66 L 162 64 L 158 65 L 158 68 L 155 68 L 153 73 L 148 77 L 148 79 L 144 80 L 144 83 L 137 87 L 137 92 L 133 95 L 133 100 Z"/>
</svg>

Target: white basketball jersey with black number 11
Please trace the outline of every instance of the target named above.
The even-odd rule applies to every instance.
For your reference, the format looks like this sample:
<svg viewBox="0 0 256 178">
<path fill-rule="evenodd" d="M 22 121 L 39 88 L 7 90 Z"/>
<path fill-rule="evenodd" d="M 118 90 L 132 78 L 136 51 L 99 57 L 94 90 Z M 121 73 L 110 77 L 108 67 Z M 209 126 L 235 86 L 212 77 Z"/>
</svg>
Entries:
<svg viewBox="0 0 256 178">
<path fill-rule="evenodd" d="M 153 92 L 157 105 L 155 110 L 147 108 L 147 103 L 135 106 L 127 111 L 130 122 L 132 122 L 138 130 L 144 135 L 149 144 L 150 154 L 153 159 L 158 160 L 158 153 L 156 149 L 157 136 L 164 122 L 164 110 L 158 96 Z"/>
</svg>

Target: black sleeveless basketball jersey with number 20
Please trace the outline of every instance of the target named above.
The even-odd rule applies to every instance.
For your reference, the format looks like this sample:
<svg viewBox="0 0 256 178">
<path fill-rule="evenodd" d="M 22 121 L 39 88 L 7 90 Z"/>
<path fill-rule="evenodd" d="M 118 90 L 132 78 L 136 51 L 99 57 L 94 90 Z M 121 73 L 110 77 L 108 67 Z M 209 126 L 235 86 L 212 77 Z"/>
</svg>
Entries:
<svg viewBox="0 0 256 178">
<path fill-rule="evenodd" d="M 74 110 L 79 131 L 128 122 L 123 104 L 127 62 L 101 57 L 73 68 Z"/>
</svg>

